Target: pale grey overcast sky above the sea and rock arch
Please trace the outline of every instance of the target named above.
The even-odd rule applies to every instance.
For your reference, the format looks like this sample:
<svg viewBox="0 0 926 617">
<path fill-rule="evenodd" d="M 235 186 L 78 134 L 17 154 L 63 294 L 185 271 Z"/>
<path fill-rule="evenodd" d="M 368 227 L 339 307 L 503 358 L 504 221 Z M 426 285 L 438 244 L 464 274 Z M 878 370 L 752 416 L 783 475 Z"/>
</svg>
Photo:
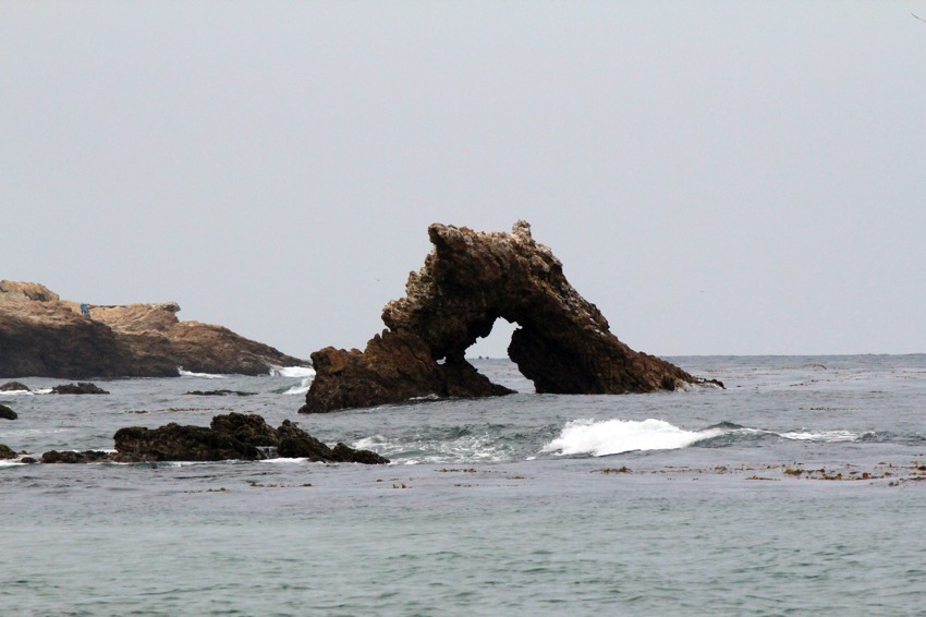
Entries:
<svg viewBox="0 0 926 617">
<path fill-rule="evenodd" d="M 307 358 L 525 218 L 634 349 L 926 352 L 912 12 L 7 0 L 0 278 Z"/>
</svg>

